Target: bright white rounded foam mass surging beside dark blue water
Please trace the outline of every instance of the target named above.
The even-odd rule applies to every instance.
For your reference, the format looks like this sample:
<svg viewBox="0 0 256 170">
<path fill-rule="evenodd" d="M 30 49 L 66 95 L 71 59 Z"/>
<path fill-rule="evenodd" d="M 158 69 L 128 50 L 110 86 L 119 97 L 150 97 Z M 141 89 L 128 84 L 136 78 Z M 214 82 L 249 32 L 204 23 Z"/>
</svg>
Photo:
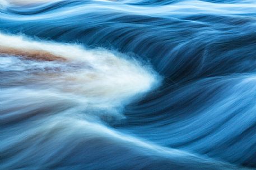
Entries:
<svg viewBox="0 0 256 170">
<path fill-rule="evenodd" d="M 12 60 L 7 60 L 6 63 L 9 69 L 12 68 L 10 62 L 13 61 L 14 68 L 21 71 L 32 70 L 32 67 L 38 70 L 38 73 L 32 77 L 24 77 L 26 85 L 34 84 L 40 88 L 56 90 L 58 93 L 73 94 L 99 107 L 123 105 L 129 99 L 151 90 L 159 82 L 157 74 L 150 67 L 142 66 L 134 59 L 128 59 L 122 54 L 117 56 L 104 49 L 85 50 L 81 45 L 35 41 L 25 36 L 3 33 L 0 33 L 0 47 L 11 47 L 26 52 L 40 50 L 66 59 L 67 61 L 64 62 L 38 60 L 17 62 L 13 61 L 12 57 Z M 20 63 L 20 67 L 17 63 Z M 60 69 L 55 70 L 62 71 L 45 71 L 51 66 L 59 67 Z"/>
</svg>

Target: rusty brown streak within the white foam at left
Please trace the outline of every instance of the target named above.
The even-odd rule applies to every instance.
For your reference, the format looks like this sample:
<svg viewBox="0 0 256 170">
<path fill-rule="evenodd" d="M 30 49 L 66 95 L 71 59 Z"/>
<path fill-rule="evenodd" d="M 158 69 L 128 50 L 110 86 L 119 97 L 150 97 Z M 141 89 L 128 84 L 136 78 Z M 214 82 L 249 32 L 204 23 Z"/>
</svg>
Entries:
<svg viewBox="0 0 256 170">
<path fill-rule="evenodd" d="M 63 57 L 53 55 L 44 50 L 23 50 L 20 48 L 0 46 L 1 55 L 22 56 L 28 59 L 43 60 L 43 61 L 66 61 Z"/>
</svg>

